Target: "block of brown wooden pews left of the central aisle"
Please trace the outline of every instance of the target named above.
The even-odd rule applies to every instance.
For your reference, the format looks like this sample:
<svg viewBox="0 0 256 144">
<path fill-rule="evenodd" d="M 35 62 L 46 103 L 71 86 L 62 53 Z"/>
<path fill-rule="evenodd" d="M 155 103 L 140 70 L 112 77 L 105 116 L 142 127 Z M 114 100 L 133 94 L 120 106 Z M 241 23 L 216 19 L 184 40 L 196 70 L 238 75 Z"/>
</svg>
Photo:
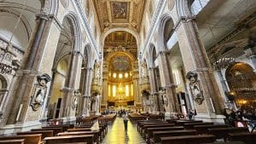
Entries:
<svg viewBox="0 0 256 144">
<path fill-rule="evenodd" d="M 101 143 L 108 133 L 108 123 L 99 123 L 100 130 L 91 130 L 93 123 L 61 124 L 0 136 L 0 144 L 93 144 Z"/>
</svg>

